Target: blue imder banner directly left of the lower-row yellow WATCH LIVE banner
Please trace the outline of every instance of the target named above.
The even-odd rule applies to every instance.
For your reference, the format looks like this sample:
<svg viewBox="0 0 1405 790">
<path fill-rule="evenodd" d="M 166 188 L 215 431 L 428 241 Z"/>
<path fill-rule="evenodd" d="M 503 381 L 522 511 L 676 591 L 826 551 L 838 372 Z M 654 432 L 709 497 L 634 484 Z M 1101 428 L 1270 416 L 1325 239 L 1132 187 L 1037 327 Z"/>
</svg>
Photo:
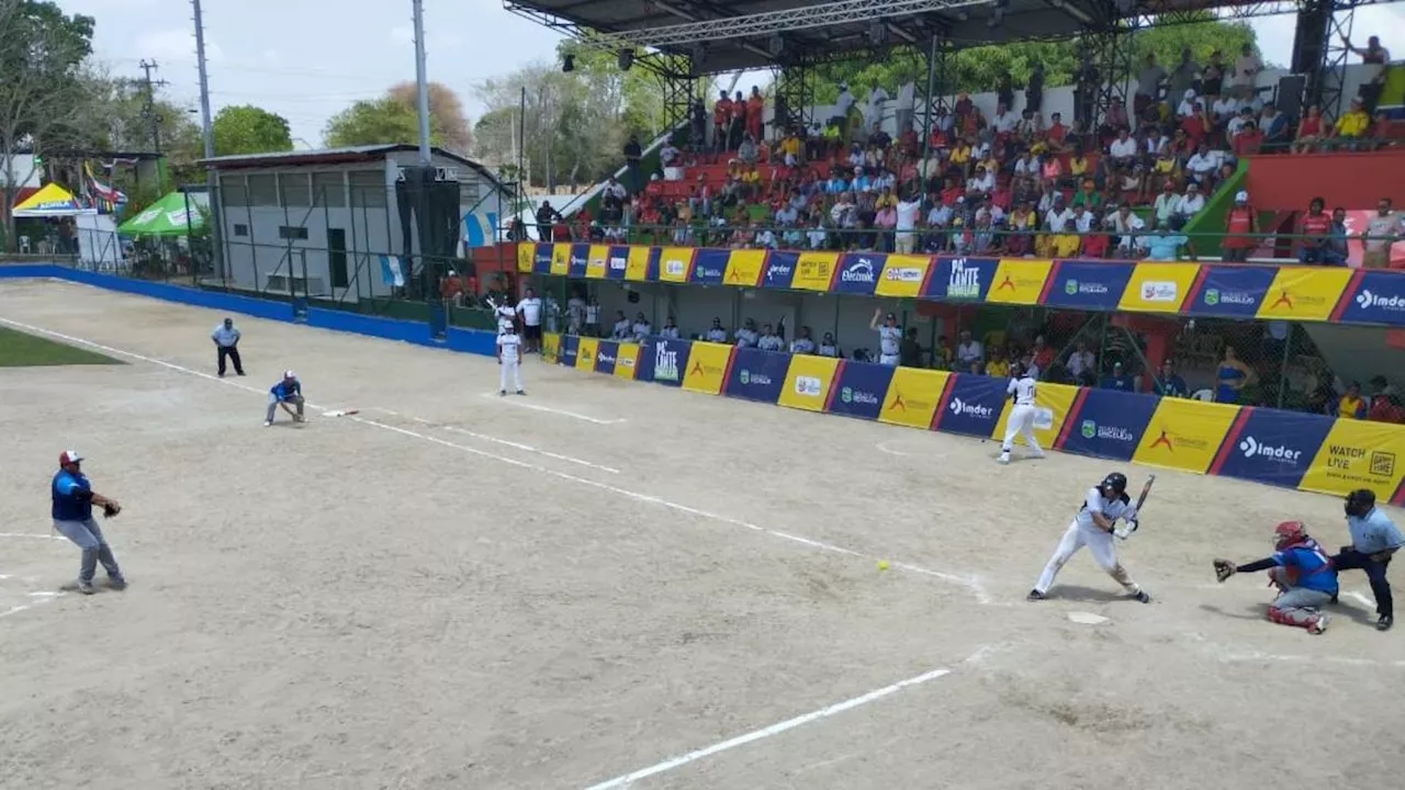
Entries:
<svg viewBox="0 0 1405 790">
<path fill-rule="evenodd" d="M 1221 448 L 1210 474 L 1297 488 L 1332 423 L 1326 415 L 1245 408 L 1238 433 Z"/>
</svg>

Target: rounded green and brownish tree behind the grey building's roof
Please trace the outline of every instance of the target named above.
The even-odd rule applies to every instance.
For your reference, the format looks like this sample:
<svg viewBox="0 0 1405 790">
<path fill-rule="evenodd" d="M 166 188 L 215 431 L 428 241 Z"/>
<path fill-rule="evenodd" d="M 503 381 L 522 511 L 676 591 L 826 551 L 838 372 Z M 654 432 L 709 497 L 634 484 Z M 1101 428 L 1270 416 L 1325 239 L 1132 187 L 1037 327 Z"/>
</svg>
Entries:
<svg viewBox="0 0 1405 790">
<path fill-rule="evenodd" d="M 420 139 L 414 83 L 400 83 L 377 100 L 357 101 L 327 121 L 323 142 L 333 148 L 414 143 Z M 464 107 L 452 90 L 430 83 L 430 145 L 466 153 L 471 145 Z"/>
</svg>

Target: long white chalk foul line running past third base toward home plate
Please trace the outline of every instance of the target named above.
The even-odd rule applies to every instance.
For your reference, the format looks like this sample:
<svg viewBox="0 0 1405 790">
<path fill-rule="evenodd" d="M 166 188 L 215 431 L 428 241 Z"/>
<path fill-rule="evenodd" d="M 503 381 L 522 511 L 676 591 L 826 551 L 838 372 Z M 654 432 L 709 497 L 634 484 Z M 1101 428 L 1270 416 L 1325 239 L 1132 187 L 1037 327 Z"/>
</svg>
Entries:
<svg viewBox="0 0 1405 790">
<path fill-rule="evenodd" d="M 91 346 L 94 349 L 101 349 L 101 350 L 108 351 L 111 354 L 119 354 L 119 356 L 124 356 L 124 357 L 131 357 L 133 360 L 140 360 L 140 361 L 152 363 L 152 364 L 156 364 L 156 365 L 162 365 L 164 368 L 170 368 L 170 370 L 174 370 L 174 371 L 180 371 L 180 373 L 185 373 L 185 374 L 190 374 L 190 375 L 195 375 L 195 377 L 204 378 L 207 381 L 214 381 L 216 384 L 228 384 L 230 387 L 237 387 L 239 389 L 246 389 L 246 391 L 254 392 L 257 395 L 263 395 L 264 394 L 263 389 L 259 389 L 259 388 L 254 388 L 254 387 L 246 387 L 246 385 L 239 384 L 236 381 L 229 381 L 226 378 L 219 378 L 219 377 L 211 375 L 208 373 L 201 373 L 198 370 L 191 370 L 191 368 L 178 365 L 176 363 L 167 363 L 167 361 L 157 360 L 157 358 L 153 358 L 153 357 L 146 357 L 146 356 L 142 356 L 142 354 L 138 354 L 138 353 L 133 353 L 133 351 L 125 351 L 122 349 L 114 349 L 111 346 L 103 346 L 101 343 L 94 343 L 91 340 L 84 340 L 81 337 L 73 337 L 72 335 L 63 335 L 63 333 L 59 333 L 59 332 L 53 332 L 51 329 L 44 329 L 44 328 L 39 328 L 39 326 L 31 326 L 28 323 L 20 323 L 18 320 L 10 320 L 7 318 L 0 318 L 0 323 L 8 323 L 11 326 L 17 326 L 20 329 L 25 329 L 28 332 L 38 332 L 41 335 L 49 335 L 52 337 L 59 337 L 60 340 L 67 340 L 70 343 L 79 343 L 79 344 L 84 344 L 84 346 Z M 497 399 L 496 395 L 493 395 L 492 398 Z M 521 403 L 520 401 L 509 401 L 509 402 L 510 403 L 517 403 L 520 406 L 541 408 L 541 409 L 545 409 L 545 410 L 555 410 L 555 409 L 547 409 L 545 406 L 534 406 L 534 405 L 530 405 L 530 403 Z M 312 409 L 319 409 L 320 408 L 320 406 L 316 406 L 312 402 L 308 402 L 306 405 L 308 405 L 308 408 L 312 408 Z M 377 409 L 377 410 L 388 410 L 388 409 Z M 607 422 L 597 420 L 596 417 L 584 417 L 583 415 L 572 415 L 572 416 L 579 416 L 579 417 L 586 419 L 589 422 L 600 422 L 601 425 L 610 425 Z M 850 550 L 850 548 L 843 548 L 843 547 L 839 547 L 839 545 L 835 545 L 835 544 L 822 543 L 822 541 L 818 541 L 818 540 L 811 540 L 808 537 L 802 537 L 802 536 L 797 536 L 797 534 L 791 534 L 791 533 L 783 533 L 780 530 L 771 530 L 771 529 L 767 529 L 767 527 L 762 527 L 762 526 L 753 524 L 750 522 L 742 522 L 739 519 L 732 519 L 731 516 L 722 516 L 719 513 L 711 513 L 708 510 L 701 510 L 701 509 L 697 509 L 697 507 L 690 507 L 687 505 L 681 505 L 679 502 L 672 502 L 672 500 L 667 500 L 667 499 L 662 499 L 659 496 L 652 496 L 652 495 L 648 495 L 648 493 L 639 493 L 639 492 L 635 492 L 635 491 L 628 491 L 628 489 L 624 489 L 624 488 L 613 486 L 613 485 L 597 482 L 597 481 L 593 481 L 593 479 L 580 478 L 580 477 L 570 475 L 570 474 L 566 474 L 566 472 L 559 472 L 556 470 L 541 467 L 538 464 L 528 464 L 527 461 L 518 461 L 516 458 L 509 458 L 507 455 L 499 455 L 496 453 L 488 453 L 486 450 L 479 450 L 476 447 L 466 447 L 464 444 L 454 444 L 452 441 L 445 441 L 443 439 L 438 439 L 437 436 L 427 436 L 427 434 L 417 433 L 417 432 L 413 432 L 413 430 L 409 430 L 409 429 L 396 427 L 393 425 L 386 425 L 386 423 L 382 423 L 382 422 L 365 419 L 365 417 L 355 416 L 355 415 L 347 415 L 343 419 L 350 419 L 351 422 L 355 422 L 355 423 L 360 423 L 360 425 L 374 426 L 374 427 L 378 427 L 381 430 L 389 430 L 392 433 L 399 433 L 400 436 L 409 436 L 412 439 L 419 439 L 422 441 L 429 441 L 431 444 L 438 444 L 441 447 L 452 447 L 455 450 L 461 450 L 461 451 L 469 453 L 472 455 L 479 455 L 479 457 L 483 457 L 483 458 L 492 458 L 495 461 L 502 461 L 502 462 L 504 462 L 507 465 L 511 465 L 511 467 L 518 467 L 518 468 L 523 468 L 523 470 L 531 470 L 534 472 L 540 472 L 540 474 L 544 474 L 544 475 L 551 475 L 551 477 L 555 477 L 555 478 L 559 478 L 559 479 L 563 479 L 563 481 L 568 481 L 568 482 L 575 482 L 575 484 L 590 486 L 590 488 L 596 488 L 596 489 L 600 489 L 600 491 L 608 491 L 610 493 L 615 493 L 615 495 L 624 496 L 627 499 L 634 499 L 636 502 L 648 502 L 648 503 L 652 503 L 652 505 L 659 505 L 662 507 L 667 507 L 670 510 L 677 510 L 679 513 L 688 513 L 690 516 L 698 516 L 698 517 L 702 517 L 702 519 L 711 519 L 714 522 L 721 522 L 724 524 L 732 524 L 732 526 L 736 526 L 736 527 L 745 527 L 745 529 L 752 530 L 752 531 L 763 533 L 763 534 L 767 534 L 767 536 L 771 536 L 771 537 L 777 537 L 777 538 L 781 538 L 781 540 L 787 540 L 787 541 L 791 541 L 791 543 L 798 543 L 801 545 L 808 545 L 808 547 L 816 548 L 819 551 L 828 551 L 828 552 L 832 552 L 832 554 L 843 554 L 846 557 L 857 557 L 857 558 L 864 558 L 864 559 L 870 559 L 870 561 L 877 561 L 878 559 L 877 557 L 870 557 L 870 555 L 865 555 L 865 554 L 860 554 L 860 552 L 857 552 L 854 550 Z M 622 420 L 615 420 L 615 422 L 622 422 Z M 919 575 L 923 575 L 923 576 L 930 576 L 933 579 L 941 579 L 944 582 L 950 582 L 953 585 L 964 588 L 968 593 L 971 593 L 976 599 L 976 602 L 979 602 L 982 604 L 996 604 L 992 600 L 991 595 L 986 592 L 985 585 L 981 583 L 979 578 L 975 578 L 975 576 L 958 576 L 955 574 L 946 574 L 943 571 L 934 571 L 932 568 L 922 568 L 919 565 L 910 565 L 908 562 L 892 562 L 892 568 L 898 568 L 898 569 L 909 571 L 909 572 L 919 574 Z"/>
</svg>

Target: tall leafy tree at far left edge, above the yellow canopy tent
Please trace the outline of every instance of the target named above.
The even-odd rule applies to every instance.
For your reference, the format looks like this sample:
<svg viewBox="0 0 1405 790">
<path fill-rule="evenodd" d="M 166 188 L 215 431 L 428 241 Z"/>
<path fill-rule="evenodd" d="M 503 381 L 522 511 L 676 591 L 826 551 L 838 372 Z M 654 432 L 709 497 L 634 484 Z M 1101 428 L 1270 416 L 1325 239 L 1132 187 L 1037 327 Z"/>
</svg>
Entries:
<svg viewBox="0 0 1405 790">
<path fill-rule="evenodd" d="M 14 205 L 34 166 L 17 171 L 15 155 L 65 148 L 89 105 L 80 65 L 93 52 L 93 17 L 65 15 L 55 3 L 0 1 L 0 179 L 6 245 L 14 245 Z"/>
</svg>

